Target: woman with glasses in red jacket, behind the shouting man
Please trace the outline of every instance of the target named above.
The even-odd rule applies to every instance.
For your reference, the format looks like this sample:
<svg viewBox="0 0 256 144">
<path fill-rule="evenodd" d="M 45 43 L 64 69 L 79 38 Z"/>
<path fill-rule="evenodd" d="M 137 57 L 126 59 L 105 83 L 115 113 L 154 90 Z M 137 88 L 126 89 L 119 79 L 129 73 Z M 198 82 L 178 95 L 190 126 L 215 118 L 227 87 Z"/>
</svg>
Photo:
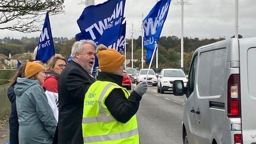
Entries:
<svg viewBox="0 0 256 144">
<path fill-rule="evenodd" d="M 66 59 L 60 55 L 55 54 L 52 56 L 46 65 L 46 78 L 42 87 L 46 89 L 45 94 L 48 99 L 48 103 L 53 110 L 54 117 L 58 122 L 58 79 L 65 68 L 67 62 Z"/>
</svg>

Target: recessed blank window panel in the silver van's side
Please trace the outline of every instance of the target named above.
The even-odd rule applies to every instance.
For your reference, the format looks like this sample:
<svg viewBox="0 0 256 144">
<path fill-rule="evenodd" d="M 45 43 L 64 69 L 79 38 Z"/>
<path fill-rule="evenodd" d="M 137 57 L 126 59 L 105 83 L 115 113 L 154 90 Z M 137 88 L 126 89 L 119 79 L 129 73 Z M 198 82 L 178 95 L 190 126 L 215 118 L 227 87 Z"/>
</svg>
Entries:
<svg viewBox="0 0 256 144">
<path fill-rule="evenodd" d="M 226 48 L 202 52 L 198 67 L 199 96 L 218 96 L 224 89 Z"/>
</svg>

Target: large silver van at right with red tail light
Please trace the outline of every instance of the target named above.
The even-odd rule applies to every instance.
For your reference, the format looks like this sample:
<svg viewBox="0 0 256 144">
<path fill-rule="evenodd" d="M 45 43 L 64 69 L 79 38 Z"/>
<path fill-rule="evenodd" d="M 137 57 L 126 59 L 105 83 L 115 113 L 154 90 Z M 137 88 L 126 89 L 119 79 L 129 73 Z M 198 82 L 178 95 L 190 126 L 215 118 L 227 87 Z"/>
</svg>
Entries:
<svg viewBox="0 0 256 144">
<path fill-rule="evenodd" d="M 256 38 L 232 38 L 198 48 L 184 95 L 184 144 L 256 144 Z"/>
</svg>

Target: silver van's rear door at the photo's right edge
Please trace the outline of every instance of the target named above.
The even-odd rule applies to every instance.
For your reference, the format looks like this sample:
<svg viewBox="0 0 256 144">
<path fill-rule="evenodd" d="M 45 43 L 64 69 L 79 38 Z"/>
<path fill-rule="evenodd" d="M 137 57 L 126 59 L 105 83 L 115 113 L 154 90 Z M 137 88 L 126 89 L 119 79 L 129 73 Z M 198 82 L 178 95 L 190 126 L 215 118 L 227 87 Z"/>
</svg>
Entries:
<svg viewBox="0 0 256 144">
<path fill-rule="evenodd" d="M 239 39 L 242 136 L 244 144 L 256 142 L 256 38 Z"/>
</svg>

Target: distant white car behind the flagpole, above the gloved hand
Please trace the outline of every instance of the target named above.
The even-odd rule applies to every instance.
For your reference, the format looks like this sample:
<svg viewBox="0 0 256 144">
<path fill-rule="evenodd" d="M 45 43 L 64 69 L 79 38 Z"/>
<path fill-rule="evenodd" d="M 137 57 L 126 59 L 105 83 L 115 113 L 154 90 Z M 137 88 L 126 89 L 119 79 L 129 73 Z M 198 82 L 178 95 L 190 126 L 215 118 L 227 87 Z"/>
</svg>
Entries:
<svg viewBox="0 0 256 144">
<path fill-rule="evenodd" d="M 136 82 L 137 85 L 138 83 L 146 80 L 147 73 L 148 73 L 148 69 L 140 69 L 139 75 L 137 76 L 138 77 Z M 156 86 L 157 85 L 156 81 L 157 81 L 156 74 L 154 70 L 150 69 L 148 73 L 147 82 L 148 84 L 152 84 L 152 86 Z"/>
</svg>

